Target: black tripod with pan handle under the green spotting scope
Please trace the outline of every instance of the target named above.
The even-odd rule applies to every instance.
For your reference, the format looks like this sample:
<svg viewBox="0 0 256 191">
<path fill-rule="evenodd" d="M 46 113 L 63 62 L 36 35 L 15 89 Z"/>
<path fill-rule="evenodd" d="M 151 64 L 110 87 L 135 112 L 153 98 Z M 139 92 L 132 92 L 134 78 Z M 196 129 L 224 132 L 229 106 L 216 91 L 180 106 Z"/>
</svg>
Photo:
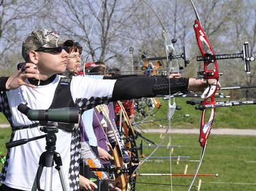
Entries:
<svg viewBox="0 0 256 191">
<path fill-rule="evenodd" d="M 31 139 L 20 139 L 18 141 L 12 141 L 6 143 L 6 147 L 15 147 L 18 145 L 23 145 L 29 141 L 34 141 L 37 139 L 46 138 L 46 151 L 43 152 L 40 156 L 38 171 L 35 175 L 35 180 L 33 182 L 32 191 L 42 191 L 40 188 L 40 177 L 42 175 L 42 171 L 44 167 L 46 168 L 45 173 L 45 191 L 52 191 L 52 182 L 53 182 L 53 165 L 54 162 L 56 164 L 55 169 L 59 172 L 59 177 L 61 180 L 62 190 L 68 191 L 68 185 L 66 184 L 63 169 L 62 169 L 62 161 L 59 153 L 55 152 L 56 149 L 56 135 L 58 133 L 57 123 L 46 123 L 45 126 L 40 128 L 40 131 L 46 133 L 45 135 L 41 135 L 38 137 L 33 137 Z"/>
</svg>

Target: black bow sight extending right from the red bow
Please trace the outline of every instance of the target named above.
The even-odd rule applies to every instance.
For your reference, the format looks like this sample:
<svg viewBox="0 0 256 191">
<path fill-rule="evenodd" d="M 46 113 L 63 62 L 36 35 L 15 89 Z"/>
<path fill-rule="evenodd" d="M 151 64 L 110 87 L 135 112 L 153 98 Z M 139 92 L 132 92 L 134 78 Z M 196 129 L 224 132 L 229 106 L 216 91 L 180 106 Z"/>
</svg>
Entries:
<svg viewBox="0 0 256 191">
<path fill-rule="evenodd" d="M 235 58 L 242 58 L 244 60 L 244 71 L 246 73 L 251 73 L 250 63 L 255 60 L 255 57 L 253 54 L 249 54 L 249 48 L 248 48 L 248 41 L 246 41 L 242 46 L 242 51 L 240 53 L 234 53 L 234 54 L 206 54 L 203 58 L 203 56 L 197 56 L 197 61 L 206 61 L 207 63 L 214 63 L 214 60 L 227 60 L 227 59 L 235 59 Z M 199 71 L 199 75 L 211 75 L 210 73 L 204 73 L 204 71 Z"/>
</svg>

